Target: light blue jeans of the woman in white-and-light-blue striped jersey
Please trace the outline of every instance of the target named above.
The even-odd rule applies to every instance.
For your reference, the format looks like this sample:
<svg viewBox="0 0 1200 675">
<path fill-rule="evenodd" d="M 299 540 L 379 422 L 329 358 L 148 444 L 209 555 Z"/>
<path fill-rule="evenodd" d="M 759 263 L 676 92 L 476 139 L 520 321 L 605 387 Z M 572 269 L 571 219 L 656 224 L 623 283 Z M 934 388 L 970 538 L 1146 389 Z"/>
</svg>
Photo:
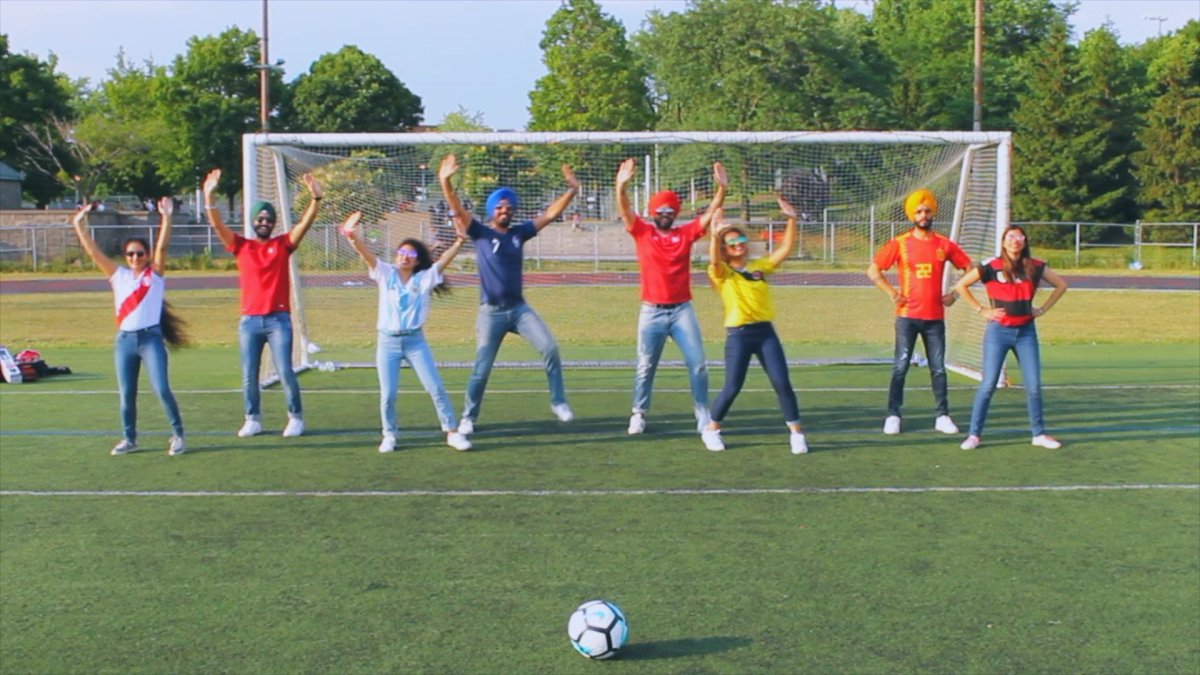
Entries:
<svg viewBox="0 0 1200 675">
<path fill-rule="evenodd" d="M 421 330 L 412 335 L 380 333 L 376 346 L 376 372 L 379 375 L 379 419 L 383 422 L 384 436 L 395 436 L 398 430 L 396 392 L 400 389 L 401 360 L 407 360 L 408 365 L 413 366 L 416 378 L 433 399 L 442 430 L 451 431 L 457 419 L 454 416 L 454 406 L 450 405 L 450 395 L 446 394 L 442 376 L 438 375 L 438 366 L 433 363 L 433 352 L 425 341 L 425 334 Z"/>
</svg>

